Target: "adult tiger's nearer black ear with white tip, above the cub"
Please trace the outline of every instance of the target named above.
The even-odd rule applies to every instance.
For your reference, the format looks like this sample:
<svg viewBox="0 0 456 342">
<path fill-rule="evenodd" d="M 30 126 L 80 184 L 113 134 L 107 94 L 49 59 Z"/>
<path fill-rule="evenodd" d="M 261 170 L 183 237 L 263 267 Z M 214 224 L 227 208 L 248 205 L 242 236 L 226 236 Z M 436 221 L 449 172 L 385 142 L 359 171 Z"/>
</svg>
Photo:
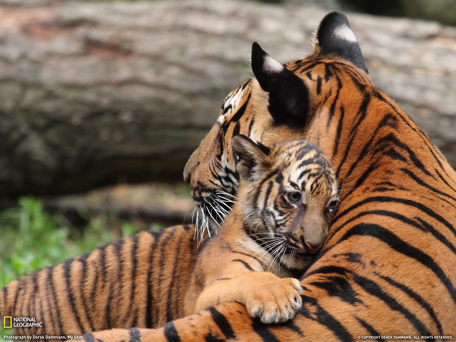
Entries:
<svg viewBox="0 0 456 342">
<path fill-rule="evenodd" d="M 264 52 L 257 42 L 252 45 L 252 70 L 261 88 L 269 93 L 268 109 L 275 122 L 303 127 L 309 112 L 309 91 L 301 78 Z"/>
</svg>

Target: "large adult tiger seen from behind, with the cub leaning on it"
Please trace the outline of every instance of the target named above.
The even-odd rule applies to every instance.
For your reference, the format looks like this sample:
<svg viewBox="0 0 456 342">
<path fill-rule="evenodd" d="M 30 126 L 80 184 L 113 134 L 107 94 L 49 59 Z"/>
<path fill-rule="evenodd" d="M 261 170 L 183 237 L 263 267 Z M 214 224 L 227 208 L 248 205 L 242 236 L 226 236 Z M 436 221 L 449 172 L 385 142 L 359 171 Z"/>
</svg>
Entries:
<svg viewBox="0 0 456 342">
<path fill-rule="evenodd" d="M 304 137 L 331 159 L 341 206 L 301 279 L 303 306 L 267 326 L 237 303 L 158 330 L 114 329 L 86 341 L 353 341 L 456 335 L 456 173 L 422 130 L 373 87 L 347 18 L 328 14 L 313 54 L 284 66 L 258 44 L 256 79 L 230 93 L 184 171 L 216 218 L 236 191 L 230 140 Z M 223 194 L 222 194 L 223 195 Z M 387 337 L 385 337 L 387 336 Z M 389 336 L 389 337 L 388 337 Z"/>
</svg>

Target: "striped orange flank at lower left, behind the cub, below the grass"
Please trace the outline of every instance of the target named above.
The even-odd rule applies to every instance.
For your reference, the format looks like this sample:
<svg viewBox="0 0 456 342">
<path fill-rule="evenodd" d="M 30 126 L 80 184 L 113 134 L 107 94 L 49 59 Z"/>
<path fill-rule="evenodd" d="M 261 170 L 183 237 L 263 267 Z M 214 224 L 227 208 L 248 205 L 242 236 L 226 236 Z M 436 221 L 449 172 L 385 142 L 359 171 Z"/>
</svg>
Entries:
<svg viewBox="0 0 456 342">
<path fill-rule="evenodd" d="M 112 327 L 158 327 L 183 316 L 197 251 L 195 227 L 141 232 L 14 280 L 0 316 L 35 317 L 19 335 L 68 336 Z"/>
</svg>

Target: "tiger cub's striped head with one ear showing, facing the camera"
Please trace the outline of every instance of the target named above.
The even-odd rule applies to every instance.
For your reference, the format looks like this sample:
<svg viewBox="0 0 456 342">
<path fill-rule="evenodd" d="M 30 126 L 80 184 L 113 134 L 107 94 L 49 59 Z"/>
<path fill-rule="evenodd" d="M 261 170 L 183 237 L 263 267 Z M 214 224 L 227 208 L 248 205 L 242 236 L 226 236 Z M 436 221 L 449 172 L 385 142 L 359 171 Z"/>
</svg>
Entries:
<svg viewBox="0 0 456 342">
<path fill-rule="evenodd" d="M 308 140 L 265 146 L 244 135 L 234 137 L 232 147 L 246 233 L 277 257 L 315 254 L 339 206 L 336 176 L 323 152 Z"/>
</svg>

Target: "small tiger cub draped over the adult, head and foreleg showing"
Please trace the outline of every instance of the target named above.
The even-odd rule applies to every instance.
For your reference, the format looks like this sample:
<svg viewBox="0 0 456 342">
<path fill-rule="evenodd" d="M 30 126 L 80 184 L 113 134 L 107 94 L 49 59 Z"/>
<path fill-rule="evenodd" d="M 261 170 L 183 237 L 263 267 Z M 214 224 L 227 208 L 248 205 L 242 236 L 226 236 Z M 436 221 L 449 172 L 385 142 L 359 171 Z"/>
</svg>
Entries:
<svg viewBox="0 0 456 342">
<path fill-rule="evenodd" d="M 307 140 L 266 147 L 237 135 L 232 146 L 238 199 L 198 256 L 185 312 L 237 301 L 263 323 L 284 322 L 301 307 L 295 278 L 323 244 L 339 206 L 336 176 Z"/>
</svg>

